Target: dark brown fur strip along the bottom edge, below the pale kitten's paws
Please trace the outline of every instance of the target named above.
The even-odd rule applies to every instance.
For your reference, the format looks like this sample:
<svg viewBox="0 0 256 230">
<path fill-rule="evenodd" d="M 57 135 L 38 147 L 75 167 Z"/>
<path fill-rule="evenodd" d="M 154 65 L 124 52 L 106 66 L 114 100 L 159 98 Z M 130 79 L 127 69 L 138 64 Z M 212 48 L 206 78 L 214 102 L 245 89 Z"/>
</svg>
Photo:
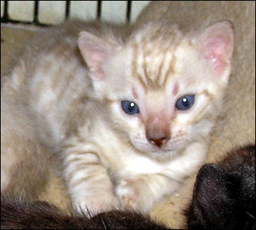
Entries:
<svg viewBox="0 0 256 230">
<path fill-rule="evenodd" d="M 163 229 L 132 212 L 104 212 L 93 218 L 64 215 L 47 202 L 1 199 L 1 229 Z"/>
</svg>

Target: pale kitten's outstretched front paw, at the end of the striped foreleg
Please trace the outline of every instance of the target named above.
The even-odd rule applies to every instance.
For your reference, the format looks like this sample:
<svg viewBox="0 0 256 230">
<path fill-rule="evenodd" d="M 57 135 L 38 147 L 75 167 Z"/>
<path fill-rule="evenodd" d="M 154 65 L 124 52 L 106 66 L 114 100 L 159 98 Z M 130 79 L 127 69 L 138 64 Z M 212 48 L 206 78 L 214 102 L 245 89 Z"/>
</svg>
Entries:
<svg viewBox="0 0 256 230">
<path fill-rule="evenodd" d="M 91 218 L 101 212 L 120 209 L 120 202 L 115 196 L 87 197 L 85 199 L 76 199 L 72 202 L 75 211 L 78 214 L 86 215 Z"/>
</svg>

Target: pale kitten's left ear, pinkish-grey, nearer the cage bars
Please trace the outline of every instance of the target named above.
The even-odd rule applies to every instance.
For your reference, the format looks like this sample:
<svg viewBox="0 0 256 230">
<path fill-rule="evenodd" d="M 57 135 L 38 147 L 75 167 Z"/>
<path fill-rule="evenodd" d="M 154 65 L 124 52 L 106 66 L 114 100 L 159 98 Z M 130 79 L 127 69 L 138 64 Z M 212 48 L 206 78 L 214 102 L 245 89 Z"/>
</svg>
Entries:
<svg viewBox="0 0 256 230">
<path fill-rule="evenodd" d="M 102 64 L 115 53 L 118 45 L 87 31 L 80 32 L 78 47 L 94 80 L 103 80 Z"/>
</svg>

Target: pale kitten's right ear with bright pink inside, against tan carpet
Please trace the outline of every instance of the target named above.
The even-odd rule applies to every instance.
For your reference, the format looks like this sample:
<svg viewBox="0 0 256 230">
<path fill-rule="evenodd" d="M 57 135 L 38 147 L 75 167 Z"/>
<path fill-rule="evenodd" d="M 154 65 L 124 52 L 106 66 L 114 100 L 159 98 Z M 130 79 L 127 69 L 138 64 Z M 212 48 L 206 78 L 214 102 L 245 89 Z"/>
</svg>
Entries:
<svg viewBox="0 0 256 230">
<path fill-rule="evenodd" d="M 227 83 L 234 48 L 233 25 L 224 20 L 208 26 L 195 39 L 195 45 L 206 59 L 214 63 L 217 75 Z"/>
</svg>

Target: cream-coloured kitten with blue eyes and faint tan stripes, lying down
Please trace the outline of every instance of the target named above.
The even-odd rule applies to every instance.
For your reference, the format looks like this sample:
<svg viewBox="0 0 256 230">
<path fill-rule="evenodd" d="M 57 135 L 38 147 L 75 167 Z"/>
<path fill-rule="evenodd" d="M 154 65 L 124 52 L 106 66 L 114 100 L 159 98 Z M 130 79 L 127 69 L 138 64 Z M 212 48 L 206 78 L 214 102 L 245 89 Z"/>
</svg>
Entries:
<svg viewBox="0 0 256 230">
<path fill-rule="evenodd" d="M 129 34 L 69 26 L 28 48 L 1 100 L 26 107 L 39 144 L 55 149 L 76 210 L 147 213 L 206 158 L 233 28 L 222 21 L 183 34 L 161 20 Z"/>
</svg>

